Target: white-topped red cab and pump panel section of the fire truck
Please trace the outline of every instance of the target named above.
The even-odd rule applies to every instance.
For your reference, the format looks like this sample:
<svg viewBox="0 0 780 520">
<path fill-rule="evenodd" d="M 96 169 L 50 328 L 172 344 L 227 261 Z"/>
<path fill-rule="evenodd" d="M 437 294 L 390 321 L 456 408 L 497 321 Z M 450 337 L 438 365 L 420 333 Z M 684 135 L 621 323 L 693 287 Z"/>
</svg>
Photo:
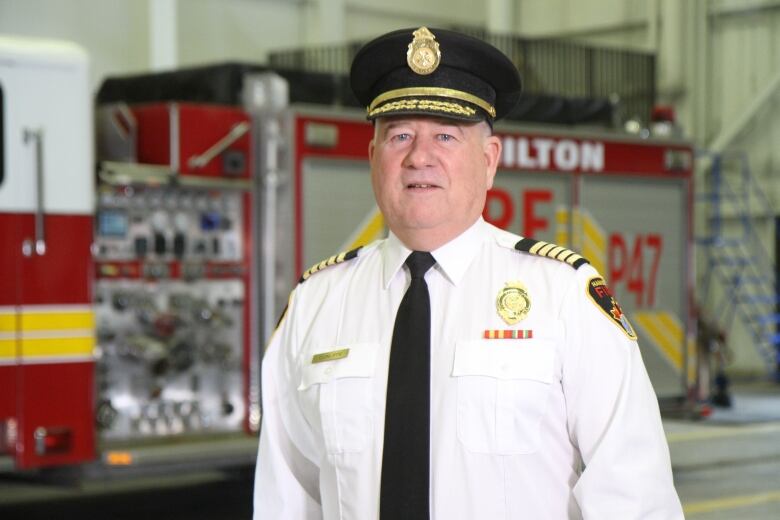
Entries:
<svg viewBox="0 0 780 520">
<path fill-rule="evenodd" d="M 96 176 L 87 67 L 0 39 L 0 470 L 251 464 L 251 117 L 127 109 Z"/>
</svg>

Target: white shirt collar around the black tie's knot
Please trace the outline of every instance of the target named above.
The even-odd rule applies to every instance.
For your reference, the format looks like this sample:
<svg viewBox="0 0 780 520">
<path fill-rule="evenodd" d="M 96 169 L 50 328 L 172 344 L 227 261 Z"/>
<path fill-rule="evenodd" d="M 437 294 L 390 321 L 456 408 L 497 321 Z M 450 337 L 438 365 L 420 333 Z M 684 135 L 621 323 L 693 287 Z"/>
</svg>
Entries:
<svg viewBox="0 0 780 520">
<path fill-rule="evenodd" d="M 463 275 L 480 249 L 487 236 L 483 230 L 487 226 L 480 216 L 466 231 L 450 240 L 439 249 L 431 251 L 436 259 L 436 269 L 453 284 L 458 285 Z M 396 273 L 403 267 L 406 257 L 412 252 L 391 231 L 382 251 L 382 286 L 387 289 Z"/>
</svg>

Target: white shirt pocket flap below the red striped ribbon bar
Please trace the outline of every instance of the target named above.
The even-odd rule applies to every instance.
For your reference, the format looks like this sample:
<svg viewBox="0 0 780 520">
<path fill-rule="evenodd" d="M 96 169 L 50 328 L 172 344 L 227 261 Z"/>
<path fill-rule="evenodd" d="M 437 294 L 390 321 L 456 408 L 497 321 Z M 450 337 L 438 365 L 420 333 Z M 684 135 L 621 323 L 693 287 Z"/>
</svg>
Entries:
<svg viewBox="0 0 780 520">
<path fill-rule="evenodd" d="M 543 339 L 459 340 L 452 375 L 552 383 L 555 343 Z"/>
</svg>

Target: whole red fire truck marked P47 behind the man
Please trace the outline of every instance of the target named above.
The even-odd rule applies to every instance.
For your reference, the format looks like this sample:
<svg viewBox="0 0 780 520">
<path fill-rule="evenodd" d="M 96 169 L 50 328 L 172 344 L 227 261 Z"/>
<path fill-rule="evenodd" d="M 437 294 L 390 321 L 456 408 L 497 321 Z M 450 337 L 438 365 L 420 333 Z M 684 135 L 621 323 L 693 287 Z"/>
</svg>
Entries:
<svg viewBox="0 0 780 520">
<path fill-rule="evenodd" d="M 185 72 L 181 95 L 136 77 L 95 104 L 88 61 L 0 37 L 0 472 L 251 465 L 263 345 L 297 277 L 386 232 L 372 128 L 358 109 L 291 104 L 296 84 L 262 68 L 223 75 L 230 100 Z M 484 218 L 581 251 L 659 398 L 686 400 L 691 146 L 495 130 Z"/>
</svg>

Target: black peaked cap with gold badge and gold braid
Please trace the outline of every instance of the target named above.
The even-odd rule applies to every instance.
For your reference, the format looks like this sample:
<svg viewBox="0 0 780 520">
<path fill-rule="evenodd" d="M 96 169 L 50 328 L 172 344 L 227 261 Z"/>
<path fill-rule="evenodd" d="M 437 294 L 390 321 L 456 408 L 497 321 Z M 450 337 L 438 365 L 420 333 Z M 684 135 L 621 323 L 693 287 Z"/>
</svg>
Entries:
<svg viewBox="0 0 780 520">
<path fill-rule="evenodd" d="M 517 67 L 492 45 L 444 29 L 401 29 L 370 41 L 350 85 L 368 119 L 422 114 L 492 123 L 517 103 Z"/>
</svg>

